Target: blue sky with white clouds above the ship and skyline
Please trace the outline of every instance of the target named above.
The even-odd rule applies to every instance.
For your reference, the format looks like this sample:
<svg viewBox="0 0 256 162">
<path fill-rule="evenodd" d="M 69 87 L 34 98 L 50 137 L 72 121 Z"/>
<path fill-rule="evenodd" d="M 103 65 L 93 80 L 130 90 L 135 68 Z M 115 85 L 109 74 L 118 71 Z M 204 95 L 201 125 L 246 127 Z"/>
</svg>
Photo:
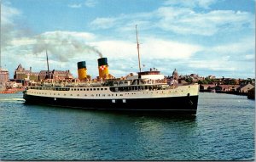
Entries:
<svg viewBox="0 0 256 162">
<path fill-rule="evenodd" d="M 2 0 L 1 66 L 98 75 L 156 68 L 163 75 L 255 78 L 255 0 Z"/>
</svg>

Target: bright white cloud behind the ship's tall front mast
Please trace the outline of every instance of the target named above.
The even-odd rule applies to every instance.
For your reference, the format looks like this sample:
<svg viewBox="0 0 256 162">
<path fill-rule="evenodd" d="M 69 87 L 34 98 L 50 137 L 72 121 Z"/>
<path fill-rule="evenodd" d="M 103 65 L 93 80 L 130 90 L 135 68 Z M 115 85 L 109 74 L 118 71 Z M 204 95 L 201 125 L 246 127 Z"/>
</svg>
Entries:
<svg viewBox="0 0 256 162">
<path fill-rule="evenodd" d="M 103 56 L 109 58 L 134 58 L 137 59 L 137 44 L 135 42 L 125 41 L 100 41 L 94 42 L 102 51 Z M 202 47 L 182 42 L 173 42 L 157 38 L 144 38 L 143 44 L 140 45 L 142 59 L 189 59 L 194 53 L 201 51 Z"/>
</svg>

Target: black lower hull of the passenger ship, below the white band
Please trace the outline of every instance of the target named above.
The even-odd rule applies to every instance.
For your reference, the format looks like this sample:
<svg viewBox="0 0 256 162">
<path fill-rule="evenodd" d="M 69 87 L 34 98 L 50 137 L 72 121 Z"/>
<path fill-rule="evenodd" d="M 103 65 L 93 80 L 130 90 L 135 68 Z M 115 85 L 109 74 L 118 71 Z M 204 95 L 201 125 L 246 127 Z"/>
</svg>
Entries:
<svg viewBox="0 0 256 162">
<path fill-rule="evenodd" d="M 198 96 L 175 98 L 137 98 L 137 99 L 76 99 L 48 98 L 24 94 L 26 103 L 46 104 L 52 106 L 82 109 L 103 109 L 123 111 L 161 111 L 189 112 L 196 114 Z M 114 101 L 113 101 L 114 100 Z"/>
</svg>

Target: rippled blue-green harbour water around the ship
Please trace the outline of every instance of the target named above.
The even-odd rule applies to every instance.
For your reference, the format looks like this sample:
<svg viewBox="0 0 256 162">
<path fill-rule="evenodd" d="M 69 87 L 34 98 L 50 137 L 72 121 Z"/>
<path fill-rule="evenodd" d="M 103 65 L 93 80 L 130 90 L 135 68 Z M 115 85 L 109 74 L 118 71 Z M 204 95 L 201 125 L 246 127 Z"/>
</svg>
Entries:
<svg viewBox="0 0 256 162">
<path fill-rule="evenodd" d="M 26 105 L 0 95 L 2 160 L 253 160 L 255 101 L 200 93 L 196 117 Z"/>
</svg>

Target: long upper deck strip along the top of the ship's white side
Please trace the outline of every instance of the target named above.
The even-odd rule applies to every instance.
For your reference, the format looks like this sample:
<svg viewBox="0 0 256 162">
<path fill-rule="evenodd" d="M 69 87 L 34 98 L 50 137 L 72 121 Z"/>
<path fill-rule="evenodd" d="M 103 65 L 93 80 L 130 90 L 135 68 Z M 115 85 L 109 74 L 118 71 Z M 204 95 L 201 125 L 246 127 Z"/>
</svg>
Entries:
<svg viewBox="0 0 256 162">
<path fill-rule="evenodd" d="M 163 81 L 121 80 L 105 82 L 59 82 L 59 83 L 34 83 L 27 89 L 51 91 L 110 91 L 110 92 L 137 92 L 173 89 L 176 86 L 167 85 Z"/>
</svg>

